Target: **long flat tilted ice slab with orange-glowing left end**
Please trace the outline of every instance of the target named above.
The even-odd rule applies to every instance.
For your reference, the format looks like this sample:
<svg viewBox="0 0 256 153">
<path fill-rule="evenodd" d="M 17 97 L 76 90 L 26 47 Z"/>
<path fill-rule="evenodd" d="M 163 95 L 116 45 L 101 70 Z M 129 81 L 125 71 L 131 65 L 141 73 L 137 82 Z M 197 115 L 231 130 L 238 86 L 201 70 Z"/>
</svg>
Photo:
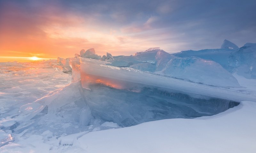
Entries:
<svg viewBox="0 0 256 153">
<path fill-rule="evenodd" d="M 105 84 L 116 89 L 132 89 L 134 84 L 144 84 L 156 86 L 158 88 L 172 89 L 238 101 L 255 98 L 252 95 L 244 95 L 237 91 L 229 91 L 225 88 L 211 87 L 168 76 L 142 72 L 131 68 L 118 68 L 108 66 L 106 64 L 108 64 L 108 62 L 81 59 L 80 74 L 84 88 L 88 88 L 88 84 L 95 83 Z M 86 77 L 87 75 L 97 77 Z M 104 77 L 104 80 L 102 80 L 101 77 Z"/>
</svg>

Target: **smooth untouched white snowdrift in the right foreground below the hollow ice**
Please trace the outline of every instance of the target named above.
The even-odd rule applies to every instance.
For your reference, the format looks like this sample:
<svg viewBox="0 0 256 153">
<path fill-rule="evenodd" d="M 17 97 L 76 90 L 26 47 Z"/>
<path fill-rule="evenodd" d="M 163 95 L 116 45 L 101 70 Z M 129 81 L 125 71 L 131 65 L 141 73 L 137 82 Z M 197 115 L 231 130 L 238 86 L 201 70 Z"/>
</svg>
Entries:
<svg viewBox="0 0 256 153">
<path fill-rule="evenodd" d="M 255 102 L 196 119 L 146 122 L 91 132 L 78 139 L 88 152 L 254 152 Z M 71 151 L 70 151 L 71 152 Z"/>
</svg>

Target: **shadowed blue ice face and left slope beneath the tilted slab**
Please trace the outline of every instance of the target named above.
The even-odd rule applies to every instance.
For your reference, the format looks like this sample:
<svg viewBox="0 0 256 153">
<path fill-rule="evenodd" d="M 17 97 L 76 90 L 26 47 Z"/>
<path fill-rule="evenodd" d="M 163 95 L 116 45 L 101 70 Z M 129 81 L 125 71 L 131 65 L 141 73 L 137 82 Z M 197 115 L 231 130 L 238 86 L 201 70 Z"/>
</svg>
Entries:
<svg viewBox="0 0 256 153">
<path fill-rule="evenodd" d="M 103 127 L 127 127 L 168 118 L 208 116 L 238 105 L 230 100 L 207 96 L 195 98 L 152 86 L 143 87 L 140 91 L 120 90 L 100 84 L 91 84 L 89 87 L 90 90 L 83 89 L 81 82 L 74 82 L 32 104 L 21 106 L 20 110 L 34 107 L 35 111 L 34 108 L 29 109 L 31 113 L 23 111 L 17 116 L 16 118 L 23 120 L 14 132 L 33 129 L 27 132 L 38 133 L 36 129 L 40 129 L 50 130 L 54 135 L 72 134 L 89 130 L 90 126 L 95 130 Z M 107 126 L 106 121 L 118 126 Z"/>
</svg>

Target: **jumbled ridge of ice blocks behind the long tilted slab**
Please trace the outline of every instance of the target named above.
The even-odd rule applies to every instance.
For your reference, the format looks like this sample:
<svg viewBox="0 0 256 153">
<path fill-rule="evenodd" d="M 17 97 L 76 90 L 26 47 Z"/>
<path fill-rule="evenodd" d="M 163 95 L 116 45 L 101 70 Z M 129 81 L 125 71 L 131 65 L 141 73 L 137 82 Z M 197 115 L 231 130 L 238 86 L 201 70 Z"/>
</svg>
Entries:
<svg viewBox="0 0 256 153">
<path fill-rule="evenodd" d="M 254 57 L 254 46 L 252 43 L 247 43 L 244 47 L 238 48 L 234 43 L 224 40 L 220 49 L 188 50 L 169 54 L 160 47 L 156 47 L 149 48 L 144 52 L 137 52 L 131 56 L 112 56 L 107 53 L 102 58 L 96 55 L 95 50 L 91 48 L 87 51 L 82 49 L 80 55 L 76 54 L 73 59 L 60 58 L 58 61 L 60 61 L 61 66 L 53 65 L 53 67 L 57 67 L 63 72 L 70 71 L 72 61 L 78 61 L 80 58 L 91 58 L 107 61 L 106 65 L 110 66 L 129 67 L 200 84 L 239 87 L 237 80 L 231 73 L 237 71 L 237 74 L 244 77 L 255 78 L 255 65 L 253 64 L 255 60 L 251 60 L 247 64 L 241 63 L 247 61 L 246 57 L 249 61 L 250 57 Z M 244 59 L 238 59 L 239 56 L 236 54 L 242 54 L 241 50 L 245 47 L 251 48 L 252 54 L 250 56 L 244 55 Z M 248 53 L 246 52 L 246 54 Z M 69 60 L 69 66 L 66 64 L 68 63 L 67 60 Z"/>
</svg>

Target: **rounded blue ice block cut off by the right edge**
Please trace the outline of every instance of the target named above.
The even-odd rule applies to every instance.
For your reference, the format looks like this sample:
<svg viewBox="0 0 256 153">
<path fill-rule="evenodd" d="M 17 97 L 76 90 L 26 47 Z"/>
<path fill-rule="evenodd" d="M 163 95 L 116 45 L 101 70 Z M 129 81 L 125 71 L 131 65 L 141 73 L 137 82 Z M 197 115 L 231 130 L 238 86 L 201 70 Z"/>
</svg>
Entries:
<svg viewBox="0 0 256 153">
<path fill-rule="evenodd" d="M 246 43 L 233 52 L 228 59 L 238 75 L 249 79 L 256 79 L 256 43 Z"/>
</svg>

